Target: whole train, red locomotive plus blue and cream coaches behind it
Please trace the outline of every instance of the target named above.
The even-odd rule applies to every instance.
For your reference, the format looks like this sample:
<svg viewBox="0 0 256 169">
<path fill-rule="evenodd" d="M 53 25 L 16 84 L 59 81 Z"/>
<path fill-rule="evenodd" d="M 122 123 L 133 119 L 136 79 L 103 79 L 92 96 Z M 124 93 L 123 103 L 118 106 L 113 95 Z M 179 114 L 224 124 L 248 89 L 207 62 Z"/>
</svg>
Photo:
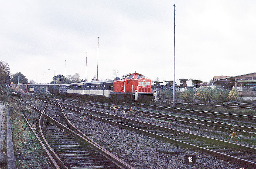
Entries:
<svg viewBox="0 0 256 169">
<path fill-rule="evenodd" d="M 63 84 L 60 85 L 59 94 L 144 104 L 156 100 L 156 90 L 151 86 L 151 80 L 145 79 L 144 75 L 138 73 L 124 75 L 121 80 L 116 81 Z"/>
</svg>

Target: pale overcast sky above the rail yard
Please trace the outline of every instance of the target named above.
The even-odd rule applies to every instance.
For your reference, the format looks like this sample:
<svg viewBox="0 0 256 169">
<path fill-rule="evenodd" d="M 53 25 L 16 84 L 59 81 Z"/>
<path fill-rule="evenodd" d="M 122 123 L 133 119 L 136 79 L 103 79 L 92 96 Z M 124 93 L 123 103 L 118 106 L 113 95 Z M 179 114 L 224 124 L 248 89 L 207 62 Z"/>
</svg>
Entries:
<svg viewBox="0 0 256 169">
<path fill-rule="evenodd" d="M 256 1 L 176 0 L 176 78 L 209 81 L 255 71 Z M 0 60 L 48 82 L 57 74 L 128 73 L 173 80 L 174 0 L 5 1 Z M 44 80 L 45 81 L 45 80 Z"/>
</svg>

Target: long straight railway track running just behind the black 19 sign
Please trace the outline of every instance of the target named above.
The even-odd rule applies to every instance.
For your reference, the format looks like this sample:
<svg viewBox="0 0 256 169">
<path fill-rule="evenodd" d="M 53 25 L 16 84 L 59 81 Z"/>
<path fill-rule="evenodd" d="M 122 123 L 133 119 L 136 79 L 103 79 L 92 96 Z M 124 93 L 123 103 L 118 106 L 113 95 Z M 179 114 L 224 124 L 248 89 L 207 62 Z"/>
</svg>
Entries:
<svg viewBox="0 0 256 169">
<path fill-rule="evenodd" d="M 57 102 L 49 101 L 57 105 Z M 174 130 L 150 123 L 140 122 L 120 116 L 93 111 L 91 109 L 81 108 L 73 105 L 60 103 L 64 110 L 69 110 L 83 115 L 94 117 L 108 123 L 128 128 L 151 137 L 159 138 L 167 142 L 176 143 L 189 147 L 198 152 L 207 153 L 220 159 L 231 161 L 245 167 L 256 167 L 256 149 L 248 146 L 234 144 L 218 139 L 191 134 L 179 130 Z"/>
</svg>

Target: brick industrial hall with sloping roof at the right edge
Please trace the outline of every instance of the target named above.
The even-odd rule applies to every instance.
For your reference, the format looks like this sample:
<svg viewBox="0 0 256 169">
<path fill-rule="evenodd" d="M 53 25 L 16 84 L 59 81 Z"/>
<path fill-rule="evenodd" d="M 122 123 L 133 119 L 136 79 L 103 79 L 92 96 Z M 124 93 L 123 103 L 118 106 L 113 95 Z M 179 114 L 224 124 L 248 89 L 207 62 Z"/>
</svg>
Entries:
<svg viewBox="0 0 256 169">
<path fill-rule="evenodd" d="M 255 100 L 256 72 L 238 76 L 214 76 L 213 79 L 213 85 L 224 90 L 236 89 L 240 97 Z"/>
</svg>

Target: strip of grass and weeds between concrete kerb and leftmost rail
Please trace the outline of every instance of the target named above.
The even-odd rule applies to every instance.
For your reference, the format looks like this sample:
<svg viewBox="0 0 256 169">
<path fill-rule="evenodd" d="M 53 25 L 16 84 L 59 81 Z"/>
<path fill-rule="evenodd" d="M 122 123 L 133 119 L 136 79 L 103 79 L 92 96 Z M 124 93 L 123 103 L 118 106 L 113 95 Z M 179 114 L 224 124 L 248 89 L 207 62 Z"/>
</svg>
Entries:
<svg viewBox="0 0 256 169">
<path fill-rule="evenodd" d="M 16 167 L 20 168 L 52 168 L 45 150 L 37 142 L 35 135 L 27 126 L 22 113 L 31 114 L 30 107 L 24 107 L 18 98 L 3 94 L 1 98 L 9 106 L 9 114 L 12 126 L 12 138 Z M 6 130 L 6 128 L 5 128 Z M 6 151 L 6 146 L 3 151 Z"/>
</svg>

